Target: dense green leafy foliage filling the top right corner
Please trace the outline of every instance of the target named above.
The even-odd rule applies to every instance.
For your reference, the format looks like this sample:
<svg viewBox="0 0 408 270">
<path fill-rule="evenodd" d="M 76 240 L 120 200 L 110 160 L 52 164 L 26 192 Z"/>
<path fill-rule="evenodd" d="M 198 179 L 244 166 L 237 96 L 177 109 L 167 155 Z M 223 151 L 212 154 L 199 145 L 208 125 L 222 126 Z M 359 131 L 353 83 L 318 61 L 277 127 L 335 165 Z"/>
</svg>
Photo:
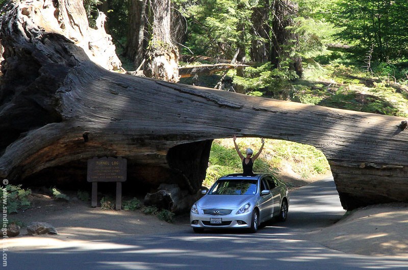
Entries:
<svg viewBox="0 0 408 270">
<path fill-rule="evenodd" d="M 345 26 L 338 38 L 365 55 L 372 45 L 373 59 L 388 62 L 408 56 L 408 32 L 404 0 L 337 0 L 327 7 L 327 19 Z"/>
</svg>

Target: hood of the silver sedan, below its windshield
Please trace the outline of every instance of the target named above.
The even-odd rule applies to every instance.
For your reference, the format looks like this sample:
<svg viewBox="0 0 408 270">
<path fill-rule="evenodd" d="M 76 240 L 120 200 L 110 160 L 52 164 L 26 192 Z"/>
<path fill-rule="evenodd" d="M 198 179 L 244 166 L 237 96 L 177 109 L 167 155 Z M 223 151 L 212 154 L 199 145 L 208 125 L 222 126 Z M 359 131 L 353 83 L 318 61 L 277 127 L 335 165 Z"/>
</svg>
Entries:
<svg viewBox="0 0 408 270">
<path fill-rule="evenodd" d="M 252 201 L 253 198 L 254 195 L 206 195 L 197 202 L 197 206 L 200 208 L 238 208 Z"/>
</svg>

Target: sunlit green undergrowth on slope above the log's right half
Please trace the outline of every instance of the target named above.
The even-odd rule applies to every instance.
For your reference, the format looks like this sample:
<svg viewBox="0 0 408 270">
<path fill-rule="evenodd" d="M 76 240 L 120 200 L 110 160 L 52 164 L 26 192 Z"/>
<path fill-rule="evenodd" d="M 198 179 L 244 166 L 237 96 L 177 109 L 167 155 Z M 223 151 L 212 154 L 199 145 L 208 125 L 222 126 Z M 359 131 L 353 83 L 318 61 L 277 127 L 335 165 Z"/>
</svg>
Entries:
<svg viewBox="0 0 408 270">
<path fill-rule="evenodd" d="M 373 70 L 382 68 L 384 73 L 388 73 L 396 67 L 391 64 L 377 67 L 375 64 Z M 359 112 L 401 117 L 408 115 L 408 95 L 389 86 L 396 77 L 369 77 L 362 69 L 342 64 L 327 65 L 324 70 L 318 77 L 296 80 L 292 100 Z"/>
</svg>

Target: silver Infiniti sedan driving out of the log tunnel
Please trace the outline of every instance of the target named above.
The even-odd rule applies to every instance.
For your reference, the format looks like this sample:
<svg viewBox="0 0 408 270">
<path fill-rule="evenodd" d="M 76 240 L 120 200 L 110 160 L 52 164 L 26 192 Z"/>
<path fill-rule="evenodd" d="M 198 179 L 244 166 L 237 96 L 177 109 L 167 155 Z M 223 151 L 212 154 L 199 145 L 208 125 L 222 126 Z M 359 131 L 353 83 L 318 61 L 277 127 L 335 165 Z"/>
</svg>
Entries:
<svg viewBox="0 0 408 270">
<path fill-rule="evenodd" d="M 218 179 L 193 204 L 190 224 L 194 232 L 218 228 L 247 228 L 256 232 L 261 223 L 274 217 L 285 221 L 288 209 L 288 188 L 274 175 L 230 174 Z"/>
</svg>

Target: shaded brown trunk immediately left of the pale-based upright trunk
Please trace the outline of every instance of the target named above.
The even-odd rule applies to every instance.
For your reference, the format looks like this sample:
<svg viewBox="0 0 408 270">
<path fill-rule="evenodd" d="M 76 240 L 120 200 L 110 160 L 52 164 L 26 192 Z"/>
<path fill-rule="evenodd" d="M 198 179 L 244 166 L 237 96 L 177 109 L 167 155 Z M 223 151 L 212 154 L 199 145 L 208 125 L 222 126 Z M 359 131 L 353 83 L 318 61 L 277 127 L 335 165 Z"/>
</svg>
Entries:
<svg viewBox="0 0 408 270">
<path fill-rule="evenodd" d="M 147 0 L 129 0 L 127 15 L 126 56 L 132 59 L 137 68 L 144 59 L 143 39 L 145 29 L 145 10 Z"/>
</svg>

